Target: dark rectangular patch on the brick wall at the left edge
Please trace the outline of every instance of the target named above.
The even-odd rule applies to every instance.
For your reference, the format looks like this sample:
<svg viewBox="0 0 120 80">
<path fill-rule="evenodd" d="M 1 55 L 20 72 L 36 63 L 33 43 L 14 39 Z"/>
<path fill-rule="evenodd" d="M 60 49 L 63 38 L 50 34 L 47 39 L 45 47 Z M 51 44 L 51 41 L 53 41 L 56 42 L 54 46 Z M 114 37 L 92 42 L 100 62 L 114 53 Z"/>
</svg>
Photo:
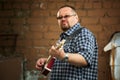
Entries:
<svg viewBox="0 0 120 80">
<path fill-rule="evenodd" d="M 15 55 L 17 34 L 0 34 L 0 58 Z"/>
</svg>

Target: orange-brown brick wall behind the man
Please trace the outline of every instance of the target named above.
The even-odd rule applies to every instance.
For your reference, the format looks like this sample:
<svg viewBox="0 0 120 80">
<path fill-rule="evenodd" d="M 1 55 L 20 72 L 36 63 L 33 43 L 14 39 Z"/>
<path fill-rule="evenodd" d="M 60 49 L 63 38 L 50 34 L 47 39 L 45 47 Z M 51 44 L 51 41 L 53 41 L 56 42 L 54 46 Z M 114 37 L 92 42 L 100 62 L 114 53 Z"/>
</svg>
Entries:
<svg viewBox="0 0 120 80">
<path fill-rule="evenodd" d="M 0 0 L 0 33 L 18 34 L 16 52 L 26 59 L 26 69 L 35 69 L 39 57 L 61 32 L 56 12 L 64 4 L 75 6 L 80 22 L 96 36 L 99 45 L 99 80 L 111 80 L 109 53 L 103 51 L 111 35 L 120 31 L 119 0 Z"/>
</svg>

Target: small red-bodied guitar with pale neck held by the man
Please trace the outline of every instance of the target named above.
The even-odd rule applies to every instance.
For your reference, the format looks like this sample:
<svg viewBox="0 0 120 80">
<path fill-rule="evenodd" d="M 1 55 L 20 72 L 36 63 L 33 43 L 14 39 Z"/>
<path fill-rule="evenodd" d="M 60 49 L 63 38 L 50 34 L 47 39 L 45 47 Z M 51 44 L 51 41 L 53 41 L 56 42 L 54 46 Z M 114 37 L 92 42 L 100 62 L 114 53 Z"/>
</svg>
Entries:
<svg viewBox="0 0 120 80">
<path fill-rule="evenodd" d="M 57 42 L 55 45 L 56 49 L 60 49 L 66 40 L 62 40 L 60 42 Z M 51 69 L 53 67 L 54 61 L 55 61 L 55 57 L 52 57 L 51 55 L 47 58 L 46 63 L 43 66 L 43 70 L 41 71 L 41 74 L 43 74 L 44 76 L 47 76 L 49 74 L 49 72 L 51 72 Z"/>
</svg>

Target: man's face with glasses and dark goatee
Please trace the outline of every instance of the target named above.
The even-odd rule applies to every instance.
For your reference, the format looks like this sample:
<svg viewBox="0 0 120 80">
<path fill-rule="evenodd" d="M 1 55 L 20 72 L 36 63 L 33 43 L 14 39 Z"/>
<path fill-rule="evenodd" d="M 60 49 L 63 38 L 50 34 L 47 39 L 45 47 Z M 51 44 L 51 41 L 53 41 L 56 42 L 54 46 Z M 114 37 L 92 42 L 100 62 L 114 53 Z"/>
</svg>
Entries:
<svg viewBox="0 0 120 80">
<path fill-rule="evenodd" d="M 57 13 L 58 24 L 63 31 L 68 30 L 78 22 L 78 16 L 69 7 L 61 8 Z"/>
</svg>

